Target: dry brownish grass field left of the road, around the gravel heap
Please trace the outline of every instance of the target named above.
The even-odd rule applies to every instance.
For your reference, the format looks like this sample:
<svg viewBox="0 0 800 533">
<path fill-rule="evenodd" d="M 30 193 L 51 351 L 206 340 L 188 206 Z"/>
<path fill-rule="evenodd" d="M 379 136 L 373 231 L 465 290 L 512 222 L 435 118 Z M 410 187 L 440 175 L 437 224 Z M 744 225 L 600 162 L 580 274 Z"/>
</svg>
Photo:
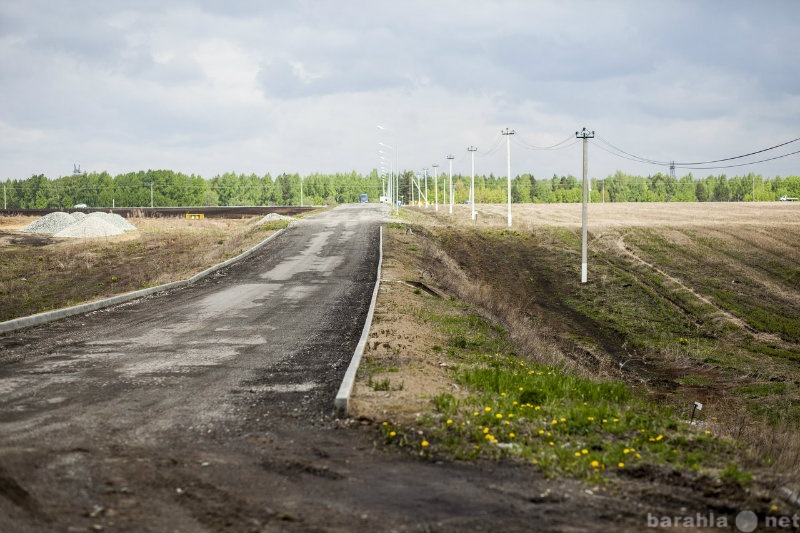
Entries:
<svg viewBox="0 0 800 533">
<path fill-rule="evenodd" d="M 285 222 L 132 218 L 138 231 L 91 239 L 20 230 L 0 216 L 0 320 L 186 279 L 250 248 Z"/>
</svg>

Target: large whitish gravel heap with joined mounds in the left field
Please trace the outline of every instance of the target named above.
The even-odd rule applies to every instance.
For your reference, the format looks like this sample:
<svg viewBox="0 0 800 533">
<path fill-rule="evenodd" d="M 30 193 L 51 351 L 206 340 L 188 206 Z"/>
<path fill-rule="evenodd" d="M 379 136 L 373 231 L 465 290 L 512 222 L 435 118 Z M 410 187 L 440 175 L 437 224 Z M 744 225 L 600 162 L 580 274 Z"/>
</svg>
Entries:
<svg viewBox="0 0 800 533">
<path fill-rule="evenodd" d="M 54 237 L 108 237 L 126 231 L 135 231 L 136 226 L 116 213 L 95 212 L 63 213 L 56 211 L 34 220 L 21 231 L 26 233 L 47 233 Z"/>
</svg>

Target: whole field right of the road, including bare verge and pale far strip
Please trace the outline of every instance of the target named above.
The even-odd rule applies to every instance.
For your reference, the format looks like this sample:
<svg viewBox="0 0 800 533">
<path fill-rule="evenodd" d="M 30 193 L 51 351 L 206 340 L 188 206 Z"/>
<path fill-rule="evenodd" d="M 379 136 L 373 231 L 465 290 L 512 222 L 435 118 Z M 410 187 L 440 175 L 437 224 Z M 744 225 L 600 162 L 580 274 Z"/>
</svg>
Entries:
<svg viewBox="0 0 800 533">
<path fill-rule="evenodd" d="M 400 434 L 402 446 L 421 449 L 410 436 L 423 431 L 426 453 L 508 455 L 499 442 L 545 471 L 590 478 L 572 452 L 616 465 L 637 449 L 642 468 L 737 482 L 800 472 L 800 206 L 592 205 L 587 284 L 580 205 L 514 205 L 510 229 L 506 206 L 476 208 L 477 222 L 470 206 L 453 216 L 446 206 L 405 210 L 411 231 L 387 231 L 385 283 L 355 401 L 360 415 L 388 421 L 387 445 Z M 514 372 L 503 381 L 509 364 L 578 382 L 572 393 L 550 394 L 564 385 L 516 382 Z M 602 401 L 590 399 L 584 378 L 611 387 Z M 537 389 L 527 396 L 535 401 L 518 388 Z M 695 401 L 704 405 L 689 425 Z M 582 437 L 565 428 L 558 436 L 569 453 L 553 455 L 547 448 L 558 443 L 537 442 L 538 426 L 510 431 L 483 416 L 491 407 L 505 424 L 526 403 L 556 421 L 566 412 L 599 420 L 604 410 L 620 424 L 636 419 L 651 437 L 664 435 L 676 457 L 636 442 L 632 426 L 583 428 Z M 453 424 L 476 419 L 478 435 L 454 437 Z M 495 447 L 482 446 L 486 435 L 499 439 Z"/>
</svg>

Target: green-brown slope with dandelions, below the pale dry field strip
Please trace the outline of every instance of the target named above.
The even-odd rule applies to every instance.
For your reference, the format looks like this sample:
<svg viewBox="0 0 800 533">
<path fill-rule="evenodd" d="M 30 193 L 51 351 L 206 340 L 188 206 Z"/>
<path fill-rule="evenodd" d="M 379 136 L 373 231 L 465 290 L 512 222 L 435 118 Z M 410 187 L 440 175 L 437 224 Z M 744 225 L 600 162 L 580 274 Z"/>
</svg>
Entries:
<svg viewBox="0 0 800 533">
<path fill-rule="evenodd" d="M 420 226 L 416 248 L 440 285 L 455 276 L 437 270 L 439 248 L 487 289 L 472 291 L 476 309 L 511 336 L 525 328 L 520 320 L 535 325 L 574 370 L 537 365 L 552 356 L 520 350 L 505 330 L 487 337 L 492 327 L 473 317 L 448 345 L 453 378 L 470 394 L 438 396 L 424 437 L 387 423 L 387 443 L 454 457 L 511 454 L 588 477 L 648 462 L 737 480 L 748 477 L 742 465 L 796 471 L 796 232 L 609 231 L 593 241 L 590 283 L 581 285 L 576 230 L 423 224 L 437 229 Z M 441 313 L 430 320 L 457 330 Z M 587 369 L 607 381 L 581 378 Z M 696 400 L 705 404 L 699 431 L 685 424 Z"/>
</svg>

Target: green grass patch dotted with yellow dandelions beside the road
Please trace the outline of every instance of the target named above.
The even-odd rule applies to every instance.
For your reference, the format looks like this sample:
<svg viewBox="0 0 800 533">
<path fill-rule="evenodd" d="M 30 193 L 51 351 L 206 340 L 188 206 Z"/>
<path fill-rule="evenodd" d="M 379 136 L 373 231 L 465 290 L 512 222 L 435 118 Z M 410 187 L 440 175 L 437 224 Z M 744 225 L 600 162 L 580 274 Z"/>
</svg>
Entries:
<svg viewBox="0 0 800 533">
<path fill-rule="evenodd" d="M 450 304 L 452 312 L 437 304 L 425 318 L 446 335 L 443 351 L 464 393 L 435 396 L 413 424 L 383 422 L 385 445 L 431 458 L 509 458 L 547 476 L 590 481 L 648 464 L 715 476 L 741 471 L 731 441 L 681 421 L 619 380 L 532 362 L 502 327 L 476 310 L 465 313 L 462 302 Z"/>
</svg>

